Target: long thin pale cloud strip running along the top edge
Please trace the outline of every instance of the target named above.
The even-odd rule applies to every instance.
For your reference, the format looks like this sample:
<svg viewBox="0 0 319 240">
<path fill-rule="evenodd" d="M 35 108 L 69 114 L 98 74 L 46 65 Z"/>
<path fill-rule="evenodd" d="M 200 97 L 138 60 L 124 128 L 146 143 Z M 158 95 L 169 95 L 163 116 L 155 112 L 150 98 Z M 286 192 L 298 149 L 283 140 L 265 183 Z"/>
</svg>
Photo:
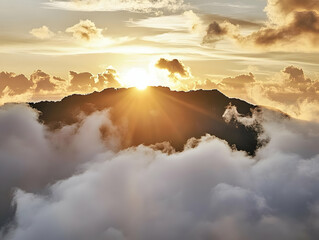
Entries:
<svg viewBox="0 0 319 240">
<path fill-rule="evenodd" d="M 50 1 L 46 6 L 69 11 L 129 11 L 138 13 L 161 13 L 162 11 L 175 12 L 185 9 L 183 0 L 68 0 Z"/>
</svg>

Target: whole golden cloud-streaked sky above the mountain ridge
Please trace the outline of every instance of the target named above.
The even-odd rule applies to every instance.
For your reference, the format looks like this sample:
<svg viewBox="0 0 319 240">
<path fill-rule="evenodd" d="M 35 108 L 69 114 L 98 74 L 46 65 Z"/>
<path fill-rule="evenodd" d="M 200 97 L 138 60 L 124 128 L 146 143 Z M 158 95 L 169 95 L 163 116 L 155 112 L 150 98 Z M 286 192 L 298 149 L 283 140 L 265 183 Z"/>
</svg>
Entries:
<svg viewBox="0 0 319 240">
<path fill-rule="evenodd" d="M 315 119 L 318 19 L 313 0 L 1 0 L 0 103 L 60 99 L 72 73 L 81 93 L 114 87 L 89 83 L 112 72 L 116 87 L 217 88 Z"/>
</svg>

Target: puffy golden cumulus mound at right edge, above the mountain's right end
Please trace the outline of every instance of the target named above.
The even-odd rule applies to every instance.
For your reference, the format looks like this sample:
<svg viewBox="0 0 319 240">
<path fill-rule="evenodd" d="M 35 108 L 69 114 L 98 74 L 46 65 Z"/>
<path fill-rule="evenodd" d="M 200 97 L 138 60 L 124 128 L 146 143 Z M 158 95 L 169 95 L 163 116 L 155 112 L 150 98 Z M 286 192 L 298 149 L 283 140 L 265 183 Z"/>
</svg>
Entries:
<svg viewBox="0 0 319 240">
<path fill-rule="evenodd" d="M 319 116 L 319 81 L 307 78 L 301 68 L 285 68 L 272 81 L 257 84 L 254 92 L 256 101 L 294 117 L 316 120 Z"/>
</svg>

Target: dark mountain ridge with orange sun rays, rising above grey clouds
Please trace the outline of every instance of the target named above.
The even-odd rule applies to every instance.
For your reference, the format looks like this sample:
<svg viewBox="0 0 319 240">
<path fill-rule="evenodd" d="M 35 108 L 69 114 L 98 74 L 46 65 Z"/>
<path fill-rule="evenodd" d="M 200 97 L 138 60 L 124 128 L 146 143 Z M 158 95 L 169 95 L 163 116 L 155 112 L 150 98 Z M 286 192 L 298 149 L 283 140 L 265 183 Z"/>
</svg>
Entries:
<svg viewBox="0 0 319 240">
<path fill-rule="evenodd" d="M 81 112 L 90 114 L 110 109 L 114 124 L 122 129 L 123 148 L 140 144 L 170 142 L 181 151 L 190 138 L 206 134 L 226 140 L 238 150 L 254 154 L 257 132 L 222 118 L 229 104 L 239 113 L 251 115 L 256 106 L 239 99 L 228 98 L 218 90 L 190 92 L 171 91 L 165 87 L 105 89 L 88 95 L 72 95 L 59 102 L 39 102 L 30 105 L 39 110 L 40 120 L 51 129 L 77 121 Z M 101 128 L 101 133 L 107 129 Z"/>
</svg>

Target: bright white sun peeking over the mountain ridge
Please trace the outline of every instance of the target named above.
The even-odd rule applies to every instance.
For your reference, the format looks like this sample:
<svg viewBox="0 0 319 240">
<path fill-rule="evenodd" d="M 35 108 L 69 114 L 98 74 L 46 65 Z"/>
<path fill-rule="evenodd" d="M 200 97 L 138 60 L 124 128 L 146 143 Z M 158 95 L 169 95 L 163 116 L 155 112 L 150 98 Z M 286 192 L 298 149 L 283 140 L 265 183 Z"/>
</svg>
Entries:
<svg viewBox="0 0 319 240">
<path fill-rule="evenodd" d="M 123 80 L 127 87 L 136 87 L 138 90 L 145 90 L 151 85 L 151 76 L 143 68 L 131 68 Z"/>
</svg>

